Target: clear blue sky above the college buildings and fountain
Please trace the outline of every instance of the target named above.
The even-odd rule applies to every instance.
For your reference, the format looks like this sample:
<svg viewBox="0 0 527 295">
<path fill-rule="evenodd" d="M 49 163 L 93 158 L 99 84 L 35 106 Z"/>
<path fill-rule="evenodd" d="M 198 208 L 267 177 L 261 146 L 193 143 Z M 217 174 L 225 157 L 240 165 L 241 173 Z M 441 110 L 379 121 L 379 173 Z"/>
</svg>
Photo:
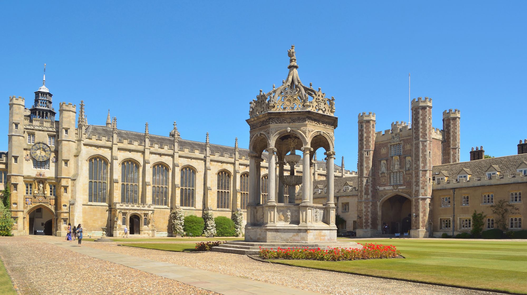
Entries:
<svg viewBox="0 0 527 295">
<path fill-rule="evenodd" d="M 433 99 L 433 125 L 461 109 L 461 159 L 472 146 L 516 154 L 527 138 L 527 2 L 15 2 L 2 3 L 0 150 L 8 97 L 42 84 L 58 102 L 84 100 L 88 122 L 108 109 L 120 129 L 247 147 L 249 101 L 287 75 L 296 45 L 302 82 L 336 99 L 336 163 L 356 169 L 357 114 L 377 128 Z M 319 156 L 319 158 L 322 158 Z"/>
</svg>

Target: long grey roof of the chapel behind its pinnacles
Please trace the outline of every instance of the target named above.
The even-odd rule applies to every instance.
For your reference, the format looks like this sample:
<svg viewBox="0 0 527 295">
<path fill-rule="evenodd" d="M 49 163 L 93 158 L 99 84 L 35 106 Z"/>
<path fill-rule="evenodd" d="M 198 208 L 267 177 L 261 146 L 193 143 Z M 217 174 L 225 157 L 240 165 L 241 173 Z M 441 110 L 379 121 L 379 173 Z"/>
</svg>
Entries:
<svg viewBox="0 0 527 295">
<path fill-rule="evenodd" d="M 86 136 L 91 138 L 92 135 L 106 136 L 106 138 L 111 139 L 113 136 L 113 129 L 111 127 L 106 127 L 106 126 L 101 126 L 101 125 L 88 125 L 88 127 L 86 128 Z M 125 138 L 125 139 L 130 139 L 130 140 L 137 140 L 139 141 L 140 145 L 144 145 L 144 133 L 143 132 L 135 132 L 135 131 L 117 129 L 117 137 L 118 137 L 118 141 L 122 141 L 123 138 Z M 172 147 L 174 145 L 174 139 L 168 136 L 149 134 L 149 139 L 150 139 L 150 144 L 152 144 L 153 142 L 157 142 L 160 146 L 168 145 L 169 147 Z M 207 145 L 205 142 L 187 140 L 187 139 L 182 139 L 182 138 L 179 139 L 178 146 L 179 146 L 180 151 L 183 151 L 184 148 L 189 148 L 190 151 L 194 151 L 194 149 L 199 149 L 200 153 L 203 153 L 203 154 L 205 153 L 205 150 L 207 149 Z M 230 157 L 234 157 L 234 147 L 214 145 L 214 144 L 209 144 L 209 146 L 210 146 L 211 155 L 218 152 L 220 153 L 220 155 L 228 153 Z M 240 157 L 242 155 L 245 155 L 245 157 L 248 159 L 249 150 L 246 148 L 238 148 L 238 155 Z M 262 158 L 264 158 L 267 161 L 267 153 L 263 153 Z M 325 161 L 317 160 L 317 165 L 323 169 L 326 169 Z M 335 167 L 335 170 L 338 170 L 338 171 L 342 169 L 340 168 L 340 166 L 335 165 L 335 164 L 334 164 L 334 167 Z"/>
</svg>

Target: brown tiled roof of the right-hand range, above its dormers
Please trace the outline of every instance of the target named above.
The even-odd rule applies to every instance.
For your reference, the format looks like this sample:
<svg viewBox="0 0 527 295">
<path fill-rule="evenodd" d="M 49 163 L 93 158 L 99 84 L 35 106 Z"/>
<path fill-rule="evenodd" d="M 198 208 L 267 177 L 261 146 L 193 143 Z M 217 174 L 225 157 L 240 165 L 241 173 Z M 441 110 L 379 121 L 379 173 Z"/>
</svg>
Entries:
<svg viewBox="0 0 527 295">
<path fill-rule="evenodd" d="M 492 165 L 497 167 L 496 170 L 500 171 L 501 174 L 509 174 L 515 173 L 516 169 L 518 169 L 518 166 L 520 166 L 523 161 L 527 161 L 527 154 L 437 165 L 432 167 L 432 173 L 433 175 L 436 175 L 443 171 L 446 172 L 445 176 L 455 177 L 463 168 L 465 168 L 465 170 L 470 170 L 470 172 L 472 172 L 472 177 L 486 177 L 486 172 Z"/>
</svg>

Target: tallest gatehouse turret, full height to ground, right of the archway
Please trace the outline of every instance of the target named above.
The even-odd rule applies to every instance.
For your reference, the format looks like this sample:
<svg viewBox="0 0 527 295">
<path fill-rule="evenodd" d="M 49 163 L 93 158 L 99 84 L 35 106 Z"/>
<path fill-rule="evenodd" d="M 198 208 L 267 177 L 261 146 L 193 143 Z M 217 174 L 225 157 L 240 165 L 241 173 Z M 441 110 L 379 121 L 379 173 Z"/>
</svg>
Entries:
<svg viewBox="0 0 527 295">
<path fill-rule="evenodd" d="M 412 237 L 427 237 L 432 197 L 432 99 L 412 101 Z"/>
</svg>

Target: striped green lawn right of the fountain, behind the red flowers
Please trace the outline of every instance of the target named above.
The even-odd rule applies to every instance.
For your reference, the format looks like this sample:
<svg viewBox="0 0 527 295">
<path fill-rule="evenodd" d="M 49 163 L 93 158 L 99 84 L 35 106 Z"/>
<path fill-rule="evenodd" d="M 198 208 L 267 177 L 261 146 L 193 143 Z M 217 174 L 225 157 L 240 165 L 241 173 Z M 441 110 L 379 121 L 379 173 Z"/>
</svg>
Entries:
<svg viewBox="0 0 527 295">
<path fill-rule="evenodd" d="M 527 294 L 527 242 L 471 240 L 353 240 L 391 244 L 406 259 L 271 262 L 448 286 Z"/>
</svg>

